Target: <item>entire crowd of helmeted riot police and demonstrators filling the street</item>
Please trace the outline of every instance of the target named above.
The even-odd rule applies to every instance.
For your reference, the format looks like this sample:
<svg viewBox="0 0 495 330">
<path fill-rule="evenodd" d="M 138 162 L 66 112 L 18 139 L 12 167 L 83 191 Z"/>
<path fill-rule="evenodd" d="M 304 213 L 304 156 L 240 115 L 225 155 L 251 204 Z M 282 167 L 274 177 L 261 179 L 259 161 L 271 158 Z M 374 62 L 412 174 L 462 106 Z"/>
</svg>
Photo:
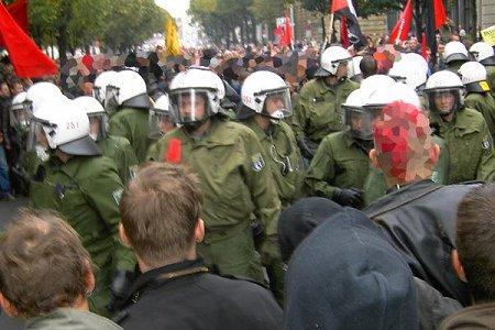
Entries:
<svg viewBox="0 0 495 330">
<path fill-rule="evenodd" d="M 34 84 L 2 64 L 1 196 L 30 207 L 0 238 L 2 309 L 28 329 L 494 328 L 494 50 L 386 42 L 88 48 Z"/>
</svg>

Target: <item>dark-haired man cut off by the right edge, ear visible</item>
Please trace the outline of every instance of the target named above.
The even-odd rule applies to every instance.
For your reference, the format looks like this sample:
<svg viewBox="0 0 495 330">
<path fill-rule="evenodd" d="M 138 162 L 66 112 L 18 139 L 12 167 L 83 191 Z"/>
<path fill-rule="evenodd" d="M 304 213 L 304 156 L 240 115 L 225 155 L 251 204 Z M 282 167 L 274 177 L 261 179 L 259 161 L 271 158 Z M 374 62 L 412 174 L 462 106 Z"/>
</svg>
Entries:
<svg viewBox="0 0 495 330">
<path fill-rule="evenodd" d="M 495 185 L 466 194 L 458 208 L 457 250 L 452 262 L 468 283 L 472 305 L 450 316 L 440 329 L 495 328 Z"/>
</svg>

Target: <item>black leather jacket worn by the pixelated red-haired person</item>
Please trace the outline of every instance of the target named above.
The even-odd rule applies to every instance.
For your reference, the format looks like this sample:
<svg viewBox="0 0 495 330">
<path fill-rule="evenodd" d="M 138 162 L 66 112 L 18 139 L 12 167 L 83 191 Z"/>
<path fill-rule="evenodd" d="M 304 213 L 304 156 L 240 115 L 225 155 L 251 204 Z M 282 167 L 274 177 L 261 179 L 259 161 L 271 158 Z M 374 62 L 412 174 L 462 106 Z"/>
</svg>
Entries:
<svg viewBox="0 0 495 330">
<path fill-rule="evenodd" d="M 421 180 L 384 196 L 363 210 L 403 253 L 415 276 L 463 305 L 469 304 L 468 287 L 452 268 L 451 252 L 457 206 L 474 187 Z"/>
</svg>

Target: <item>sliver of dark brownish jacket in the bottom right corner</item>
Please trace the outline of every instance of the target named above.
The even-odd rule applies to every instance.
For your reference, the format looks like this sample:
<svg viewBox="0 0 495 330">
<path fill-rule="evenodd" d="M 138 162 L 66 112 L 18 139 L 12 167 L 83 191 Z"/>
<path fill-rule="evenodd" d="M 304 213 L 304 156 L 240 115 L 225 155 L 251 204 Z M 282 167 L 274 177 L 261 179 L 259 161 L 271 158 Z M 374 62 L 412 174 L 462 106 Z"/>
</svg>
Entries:
<svg viewBox="0 0 495 330">
<path fill-rule="evenodd" d="M 439 329 L 495 329 L 495 304 L 464 308 L 444 320 Z"/>
</svg>

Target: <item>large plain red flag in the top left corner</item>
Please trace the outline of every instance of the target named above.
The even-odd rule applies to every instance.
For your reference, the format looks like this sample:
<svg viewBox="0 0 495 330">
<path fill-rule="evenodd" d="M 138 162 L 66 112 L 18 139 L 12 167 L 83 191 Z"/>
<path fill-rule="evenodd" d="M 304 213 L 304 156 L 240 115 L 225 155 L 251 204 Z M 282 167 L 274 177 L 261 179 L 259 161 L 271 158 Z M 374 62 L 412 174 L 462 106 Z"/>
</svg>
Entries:
<svg viewBox="0 0 495 330">
<path fill-rule="evenodd" d="M 57 66 L 19 28 L 0 2 L 0 45 L 9 52 L 10 62 L 20 78 L 36 78 L 57 73 Z"/>
</svg>

